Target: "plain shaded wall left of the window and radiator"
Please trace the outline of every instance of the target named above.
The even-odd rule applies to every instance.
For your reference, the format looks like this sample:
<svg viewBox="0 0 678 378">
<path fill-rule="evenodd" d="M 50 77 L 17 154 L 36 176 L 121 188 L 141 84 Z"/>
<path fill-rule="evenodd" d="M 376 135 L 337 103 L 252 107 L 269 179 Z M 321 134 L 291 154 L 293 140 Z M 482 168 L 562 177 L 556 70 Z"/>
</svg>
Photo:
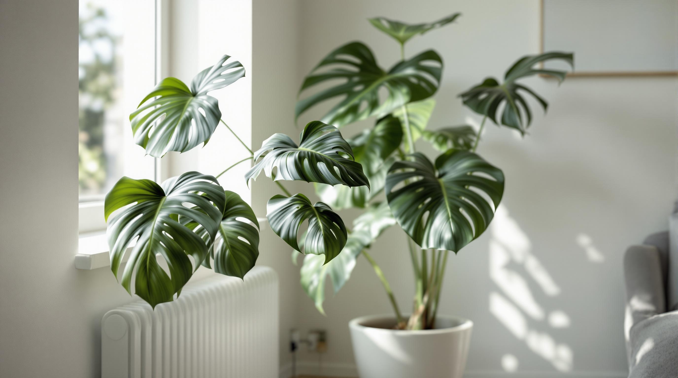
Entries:
<svg viewBox="0 0 678 378">
<path fill-rule="evenodd" d="M 77 1 L 0 2 L 0 375 L 96 377 L 100 320 L 129 301 L 76 270 Z"/>
</svg>

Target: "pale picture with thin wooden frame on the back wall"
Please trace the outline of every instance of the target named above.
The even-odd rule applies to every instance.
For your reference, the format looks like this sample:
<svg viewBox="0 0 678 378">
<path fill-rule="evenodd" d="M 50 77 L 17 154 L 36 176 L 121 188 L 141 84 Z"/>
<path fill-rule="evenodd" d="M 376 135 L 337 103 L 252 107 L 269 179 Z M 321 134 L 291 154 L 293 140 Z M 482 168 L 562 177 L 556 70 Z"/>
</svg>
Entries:
<svg viewBox="0 0 678 378">
<path fill-rule="evenodd" d="M 572 76 L 678 75 L 677 0 L 541 0 L 540 24 L 542 52 L 576 52 Z"/>
</svg>

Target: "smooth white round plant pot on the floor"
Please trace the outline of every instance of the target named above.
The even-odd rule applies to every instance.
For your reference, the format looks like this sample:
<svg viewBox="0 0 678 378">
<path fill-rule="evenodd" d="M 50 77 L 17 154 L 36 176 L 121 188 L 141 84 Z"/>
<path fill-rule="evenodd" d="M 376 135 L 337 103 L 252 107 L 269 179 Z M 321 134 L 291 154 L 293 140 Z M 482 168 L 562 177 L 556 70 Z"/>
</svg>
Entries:
<svg viewBox="0 0 678 378">
<path fill-rule="evenodd" d="M 348 322 L 360 378 L 462 378 L 473 322 L 437 316 L 435 329 L 392 329 L 393 316 Z"/>
</svg>

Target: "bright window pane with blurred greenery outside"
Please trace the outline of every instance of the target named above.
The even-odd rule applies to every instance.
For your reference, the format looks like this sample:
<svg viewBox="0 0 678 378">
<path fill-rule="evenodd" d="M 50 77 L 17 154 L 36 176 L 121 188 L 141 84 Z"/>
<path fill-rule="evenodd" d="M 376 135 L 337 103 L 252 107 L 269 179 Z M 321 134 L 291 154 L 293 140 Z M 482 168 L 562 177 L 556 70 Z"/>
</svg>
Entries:
<svg viewBox="0 0 678 378">
<path fill-rule="evenodd" d="M 79 1 L 80 231 L 105 228 L 103 200 L 123 175 L 155 179 L 157 159 L 133 142 L 129 113 L 157 78 L 154 1 Z"/>
</svg>

